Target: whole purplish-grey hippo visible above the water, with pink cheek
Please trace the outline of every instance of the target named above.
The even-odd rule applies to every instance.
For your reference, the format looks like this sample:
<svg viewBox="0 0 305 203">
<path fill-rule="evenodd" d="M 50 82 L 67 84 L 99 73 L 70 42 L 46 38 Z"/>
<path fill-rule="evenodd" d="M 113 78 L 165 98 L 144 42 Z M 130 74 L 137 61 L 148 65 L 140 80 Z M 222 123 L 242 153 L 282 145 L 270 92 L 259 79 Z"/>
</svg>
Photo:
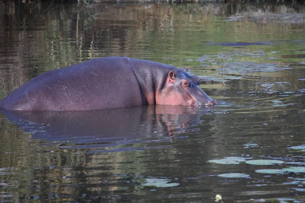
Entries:
<svg viewBox="0 0 305 203">
<path fill-rule="evenodd" d="M 141 105 L 212 106 L 199 78 L 163 63 L 105 57 L 53 70 L 0 101 L 19 111 L 84 111 Z"/>
</svg>

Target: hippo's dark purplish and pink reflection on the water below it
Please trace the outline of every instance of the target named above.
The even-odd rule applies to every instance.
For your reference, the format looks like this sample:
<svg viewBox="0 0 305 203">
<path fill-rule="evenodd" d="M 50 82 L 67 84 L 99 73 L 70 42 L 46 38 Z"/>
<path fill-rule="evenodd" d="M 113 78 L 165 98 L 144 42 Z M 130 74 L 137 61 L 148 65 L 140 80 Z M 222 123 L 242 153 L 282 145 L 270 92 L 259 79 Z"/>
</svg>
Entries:
<svg viewBox="0 0 305 203">
<path fill-rule="evenodd" d="M 143 139 L 170 139 L 182 132 L 198 130 L 208 108 L 144 106 L 96 111 L 3 111 L 32 139 L 61 143 L 60 147 L 115 148 Z M 130 150 L 130 149 L 128 149 Z"/>
</svg>

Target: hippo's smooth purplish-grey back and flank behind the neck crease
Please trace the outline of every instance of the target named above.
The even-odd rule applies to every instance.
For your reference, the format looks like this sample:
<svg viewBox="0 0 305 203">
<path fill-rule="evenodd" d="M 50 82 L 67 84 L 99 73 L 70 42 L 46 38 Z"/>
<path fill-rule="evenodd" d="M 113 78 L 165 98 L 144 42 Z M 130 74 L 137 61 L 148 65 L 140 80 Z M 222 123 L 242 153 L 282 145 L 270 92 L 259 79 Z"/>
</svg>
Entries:
<svg viewBox="0 0 305 203">
<path fill-rule="evenodd" d="M 80 111 L 143 103 L 130 59 L 106 57 L 41 74 L 5 97 L 0 108 Z"/>
</svg>

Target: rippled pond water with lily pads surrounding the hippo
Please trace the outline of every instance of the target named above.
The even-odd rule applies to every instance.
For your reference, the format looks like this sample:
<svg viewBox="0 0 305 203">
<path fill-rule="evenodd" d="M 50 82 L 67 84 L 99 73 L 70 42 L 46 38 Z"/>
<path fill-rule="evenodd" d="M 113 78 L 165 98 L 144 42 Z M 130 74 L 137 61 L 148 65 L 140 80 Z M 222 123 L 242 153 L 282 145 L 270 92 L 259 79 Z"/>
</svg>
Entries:
<svg viewBox="0 0 305 203">
<path fill-rule="evenodd" d="M 187 67 L 219 103 L 3 112 L 2 202 L 305 201 L 302 5 L 0 4 L 0 98 L 125 55 Z"/>
</svg>

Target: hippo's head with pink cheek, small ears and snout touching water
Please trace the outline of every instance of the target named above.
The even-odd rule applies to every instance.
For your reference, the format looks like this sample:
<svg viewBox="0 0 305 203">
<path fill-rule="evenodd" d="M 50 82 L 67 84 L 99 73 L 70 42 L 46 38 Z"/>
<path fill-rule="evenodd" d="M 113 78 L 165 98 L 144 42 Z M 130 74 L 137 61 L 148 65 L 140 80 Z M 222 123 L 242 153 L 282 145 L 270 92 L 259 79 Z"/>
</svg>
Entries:
<svg viewBox="0 0 305 203">
<path fill-rule="evenodd" d="M 177 70 L 170 71 L 165 85 L 156 92 L 156 104 L 160 105 L 188 105 L 213 106 L 216 100 L 210 98 L 199 87 L 199 78 L 189 73 Z"/>
</svg>

